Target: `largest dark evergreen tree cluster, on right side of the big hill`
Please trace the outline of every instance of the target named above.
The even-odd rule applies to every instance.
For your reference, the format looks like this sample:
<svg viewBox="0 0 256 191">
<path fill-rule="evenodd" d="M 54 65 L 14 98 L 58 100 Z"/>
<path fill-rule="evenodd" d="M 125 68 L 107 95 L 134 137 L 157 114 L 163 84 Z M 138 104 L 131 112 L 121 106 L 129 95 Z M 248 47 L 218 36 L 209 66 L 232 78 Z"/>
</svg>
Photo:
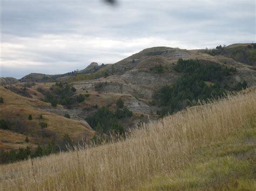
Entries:
<svg viewBox="0 0 256 191">
<path fill-rule="evenodd" d="M 225 89 L 220 86 L 221 80 L 236 71 L 235 68 L 215 63 L 183 59 L 178 60 L 174 69 L 184 74 L 173 86 L 161 87 L 153 95 L 152 103 L 162 108 L 158 111 L 161 116 L 184 109 L 191 105 L 193 100 L 206 100 L 223 95 Z"/>
</svg>

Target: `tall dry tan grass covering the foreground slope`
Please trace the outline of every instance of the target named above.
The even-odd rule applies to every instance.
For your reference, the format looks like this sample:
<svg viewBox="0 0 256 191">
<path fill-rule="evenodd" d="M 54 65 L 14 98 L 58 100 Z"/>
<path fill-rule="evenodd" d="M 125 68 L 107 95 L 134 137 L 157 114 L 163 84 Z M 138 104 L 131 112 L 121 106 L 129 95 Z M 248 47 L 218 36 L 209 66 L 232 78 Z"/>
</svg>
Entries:
<svg viewBox="0 0 256 191">
<path fill-rule="evenodd" d="M 193 107 L 161 121 L 145 124 L 133 130 L 126 140 L 120 139 L 116 143 L 34 159 L 33 165 L 30 160 L 2 165 L 0 189 L 161 189 L 159 186 L 164 185 L 162 181 L 157 181 L 156 185 L 150 187 L 142 184 L 150 180 L 156 182 L 156 177 L 161 174 L 166 174 L 168 181 L 173 179 L 176 182 L 174 186 L 167 182 L 166 189 L 169 185 L 171 185 L 170 189 L 179 189 L 184 182 L 187 182 L 185 185 L 188 186 L 195 185 L 188 188 L 206 188 L 214 179 L 217 179 L 217 182 L 219 180 L 219 187 L 222 187 L 223 178 L 227 184 L 230 184 L 230 179 L 226 179 L 229 168 L 235 174 L 242 166 L 241 172 L 234 177 L 250 175 L 252 172 L 247 171 L 248 166 L 251 165 L 250 161 L 243 163 L 238 158 L 225 154 L 219 159 L 201 157 L 201 161 L 200 157 L 196 161 L 191 157 L 197 156 L 196 153 L 204 155 L 204 150 L 201 150 L 204 147 L 210 152 L 211 148 L 208 149 L 207 145 L 223 142 L 226 137 L 250 125 L 251 119 L 255 117 L 255 90 L 235 96 L 230 95 L 214 103 Z M 214 152 L 212 153 L 214 156 Z M 226 171 L 222 170 L 222 164 L 223 166 L 229 164 Z M 215 168 L 217 166 L 219 170 Z M 207 176 L 208 172 L 211 176 Z M 203 181 L 199 181 L 205 174 L 206 182 L 210 183 L 204 184 Z M 240 182 L 242 180 L 244 179 Z M 215 183 L 213 182 L 212 185 Z"/>
</svg>

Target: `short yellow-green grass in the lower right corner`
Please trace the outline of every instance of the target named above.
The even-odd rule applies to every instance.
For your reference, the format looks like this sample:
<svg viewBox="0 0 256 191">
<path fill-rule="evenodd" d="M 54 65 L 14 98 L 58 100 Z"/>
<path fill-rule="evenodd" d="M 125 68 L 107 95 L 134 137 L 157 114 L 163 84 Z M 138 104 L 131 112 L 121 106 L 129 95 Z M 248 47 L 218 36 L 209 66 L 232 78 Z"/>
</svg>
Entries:
<svg viewBox="0 0 256 191">
<path fill-rule="evenodd" d="M 199 146 L 177 172 L 153 177 L 140 190 L 255 190 L 256 118 L 222 141 Z"/>
</svg>

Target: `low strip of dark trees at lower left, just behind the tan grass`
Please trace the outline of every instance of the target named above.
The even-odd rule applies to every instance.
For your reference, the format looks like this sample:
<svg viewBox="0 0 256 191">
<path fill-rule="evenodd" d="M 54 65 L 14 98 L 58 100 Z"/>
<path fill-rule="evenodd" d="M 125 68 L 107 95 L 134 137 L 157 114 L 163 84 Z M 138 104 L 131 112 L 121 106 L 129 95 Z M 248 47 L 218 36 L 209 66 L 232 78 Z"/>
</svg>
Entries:
<svg viewBox="0 0 256 191">
<path fill-rule="evenodd" d="M 27 138 L 27 137 L 26 137 Z M 28 141 L 26 141 L 28 142 Z M 69 137 L 68 134 L 65 134 L 57 144 L 55 140 L 51 140 L 48 144 L 41 146 L 38 145 L 35 150 L 31 150 L 29 146 L 26 148 L 19 148 L 17 151 L 0 151 L 0 164 L 6 164 L 11 162 L 16 162 L 19 160 L 25 160 L 35 157 L 41 157 L 43 155 L 49 155 L 52 153 L 57 153 L 59 151 L 65 152 L 68 150 L 72 150 L 73 146 L 75 146 L 75 142 Z"/>
</svg>

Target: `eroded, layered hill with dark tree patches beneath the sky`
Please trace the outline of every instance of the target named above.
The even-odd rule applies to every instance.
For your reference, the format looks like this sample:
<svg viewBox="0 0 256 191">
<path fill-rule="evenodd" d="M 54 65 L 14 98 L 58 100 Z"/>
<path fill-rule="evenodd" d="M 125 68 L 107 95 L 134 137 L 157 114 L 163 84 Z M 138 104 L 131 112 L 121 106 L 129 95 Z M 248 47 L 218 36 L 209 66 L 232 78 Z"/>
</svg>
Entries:
<svg viewBox="0 0 256 191">
<path fill-rule="evenodd" d="M 230 45 L 224 49 L 237 47 L 244 47 L 246 51 L 250 49 L 248 44 Z M 87 136 L 86 133 L 81 133 L 82 126 L 75 125 L 76 123 L 82 123 L 89 129 L 91 127 L 97 135 L 105 137 L 109 136 L 110 131 L 128 132 L 137 124 L 149 119 L 157 119 L 174 114 L 187 106 L 191 107 L 193 100 L 207 100 L 221 96 L 226 91 L 256 86 L 256 70 L 254 66 L 238 62 L 226 54 L 210 55 L 205 50 L 152 47 L 114 64 L 98 65 L 92 62 L 83 70 L 58 75 L 32 73 L 12 83 L 3 84 L 5 89 L 1 89 L 0 97 L 3 94 L 4 100 L 6 99 L 6 92 L 3 91 L 6 90 L 12 92 L 12 96 L 19 97 L 22 102 L 29 98 L 29 103 L 37 104 L 33 107 L 29 107 L 29 104 L 19 106 L 15 97 L 8 103 L 15 104 L 8 108 L 6 115 L 16 114 L 16 108 L 29 107 L 18 112 L 23 116 L 22 121 L 30 114 L 38 118 L 42 112 L 46 112 L 49 118 L 58 118 L 58 124 L 53 123 L 56 127 L 52 131 L 52 127 L 49 127 L 40 133 L 32 131 L 33 126 L 38 128 L 39 119 L 25 123 L 28 131 L 21 135 L 20 139 L 29 136 L 28 138 L 33 140 L 37 136 L 42 137 L 44 133 L 48 136 L 46 142 L 54 135 L 60 144 L 65 133 L 73 140 L 82 137 L 90 140 L 93 137 L 92 130 Z M 123 102 L 122 108 L 117 106 L 118 100 Z M 4 120 L 5 118 L 0 117 Z M 52 120 L 53 117 L 50 121 Z M 65 128 L 66 131 L 59 132 L 59 124 L 69 126 L 70 123 L 73 124 L 73 129 Z M 75 126 L 81 129 L 76 130 Z M 80 136 L 74 131 L 79 132 Z M 8 131 L 8 134 L 10 133 L 12 131 Z M 5 140 L 5 145 L 8 142 L 16 142 L 15 139 L 10 140 L 11 137 Z M 39 138 L 37 143 L 46 144 L 42 138 Z M 18 145 L 8 143 L 8 146 L 3 147 L 17 149 Z"/>
</svg>

